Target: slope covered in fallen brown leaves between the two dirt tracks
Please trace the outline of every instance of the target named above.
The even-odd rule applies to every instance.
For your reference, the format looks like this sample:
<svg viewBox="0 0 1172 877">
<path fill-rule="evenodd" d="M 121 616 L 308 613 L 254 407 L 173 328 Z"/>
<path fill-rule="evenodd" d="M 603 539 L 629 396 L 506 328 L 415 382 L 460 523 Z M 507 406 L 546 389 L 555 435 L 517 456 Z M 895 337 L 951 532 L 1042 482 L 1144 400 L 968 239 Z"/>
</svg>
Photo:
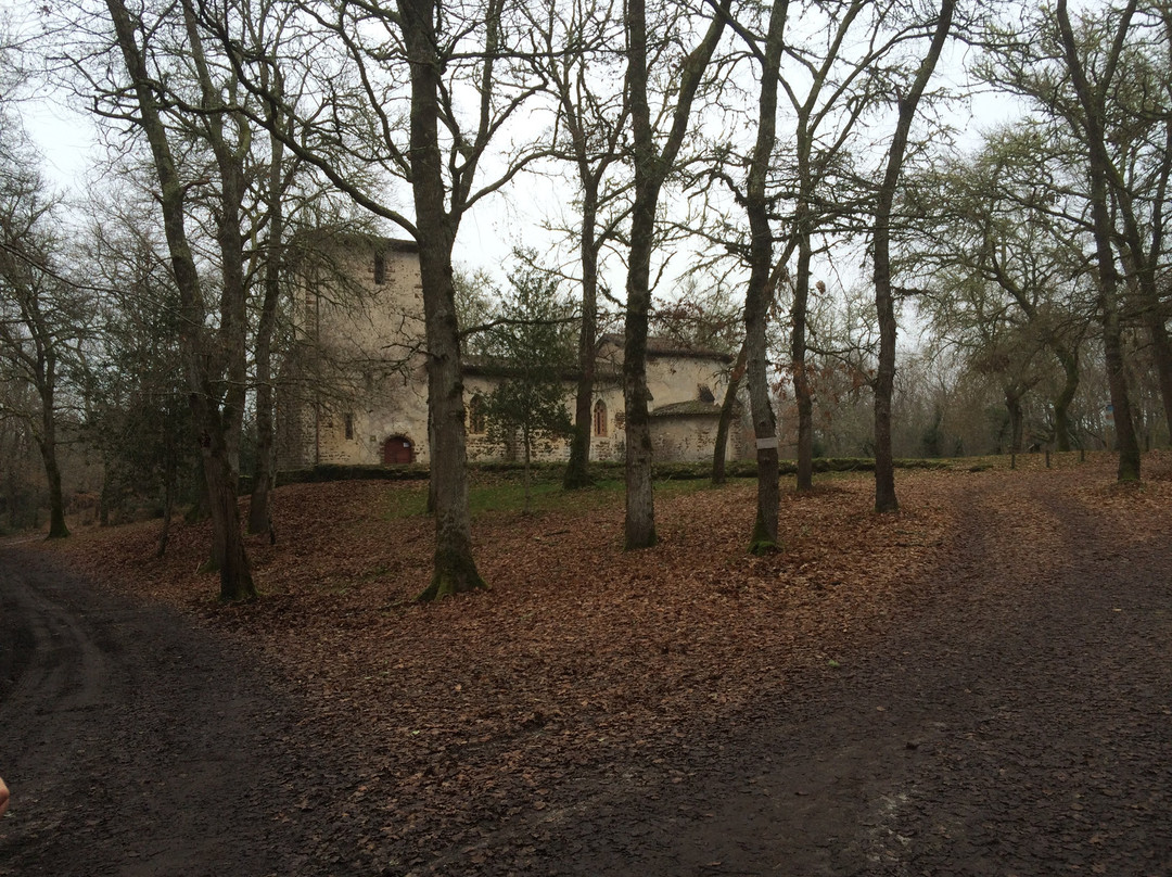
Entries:
<svg viewBox="0 0 1172 877">
<path fill-rule="evenodd" d="M 901 474 L 901 511 L 885 516 L 871 511 L 868 476 L 785 494 L 785 549 L 765 558 L 745 553 L 745 482 L 665 487 L 661 543 L 632 553 L 613 490 L 531 517 L 489 508 L 473 535 L 491 590 L 438 605 L 411 601 L 431 551 L 416 484 L 278 490 L 278 544 L 250 545 L 264 594 L 254 605 L 213 603 L 214 577 L 196 572 L 202 525 L 173 533 L 164 560 L 152 559 L 150 524 L 86 535 L 68 551 L 111 587 L 259 644 L 304 698 L 305 723 L 353 753 L 339 831 L 363 837 L 373 861 L 408 866 L 543 810 L 608 766 L 666 763 L 679 741 L 735 722 L 793 674 L 847 661 L 922 609 L 925 577 L 963 531 L 974 485 L 996 482 L 1007 564 L 1057 550 L 1029 504 L 1034 478 L 1061 482 L 1123 530 L 1151 521 L 1143 538 L 1168 538 L 1172 456 L 1145 458 L 1142 488 L 1115 487 L 1105 456 L 1020 463 Z"/>
</svg>

